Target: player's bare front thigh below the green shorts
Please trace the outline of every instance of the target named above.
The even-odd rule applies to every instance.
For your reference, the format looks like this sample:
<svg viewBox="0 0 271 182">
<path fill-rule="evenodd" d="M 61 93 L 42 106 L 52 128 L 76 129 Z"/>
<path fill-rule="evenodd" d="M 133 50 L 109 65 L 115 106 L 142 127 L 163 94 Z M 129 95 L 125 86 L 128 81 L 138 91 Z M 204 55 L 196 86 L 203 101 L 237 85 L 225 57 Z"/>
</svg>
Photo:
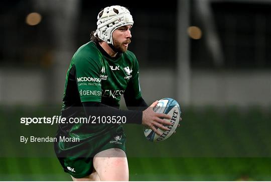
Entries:
<svg viewBox="0 0 271 182">
<path fill-rule="evenodd" d="M 118 148 L 110 148 L 97 153 L 93 166 L 101 180 L 129 180 L 126 154 Z"/>
</svg>

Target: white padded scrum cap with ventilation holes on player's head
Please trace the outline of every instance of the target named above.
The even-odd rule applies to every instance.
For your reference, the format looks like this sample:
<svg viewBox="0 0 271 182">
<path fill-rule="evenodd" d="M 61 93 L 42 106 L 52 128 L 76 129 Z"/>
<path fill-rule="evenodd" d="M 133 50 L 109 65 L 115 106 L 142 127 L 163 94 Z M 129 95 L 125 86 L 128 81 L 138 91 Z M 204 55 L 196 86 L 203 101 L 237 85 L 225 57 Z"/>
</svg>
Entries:
<svg viewBox="0 0 271 182">
<path fill-rule="evenodd" d="M 132 16 L 129 10 L 121 6 L 111 6 L 104 8 L 97 17 L 97 35 L 108 44 L 113 44 L 112 33 L 118 27 L 133 25 Z"/>
</svg>

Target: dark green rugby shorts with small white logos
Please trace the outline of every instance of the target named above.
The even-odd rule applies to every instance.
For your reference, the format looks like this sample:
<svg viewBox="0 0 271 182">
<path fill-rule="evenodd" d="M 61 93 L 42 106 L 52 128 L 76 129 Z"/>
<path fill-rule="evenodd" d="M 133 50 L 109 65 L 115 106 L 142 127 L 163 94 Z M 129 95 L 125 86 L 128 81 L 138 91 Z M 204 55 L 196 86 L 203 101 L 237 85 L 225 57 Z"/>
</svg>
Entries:
<svg viewBox="0 0 271 182">
<path fill-rule="evenodd" d="M 105 132 L 79 142 L 60 142 L 59 137 L 65 135 L 67 133 L 58 130 L 58 141 L 54 143 L 55 153 L 64 171 L 75 178 L 85 177 L 93 172 L 93 157 L 100 151 L 119 148 L 125 152 L 126 136 L 121 125 L 114 125 Z M 78 133 L 76 135 L 80 136 Z"/>
</svg>

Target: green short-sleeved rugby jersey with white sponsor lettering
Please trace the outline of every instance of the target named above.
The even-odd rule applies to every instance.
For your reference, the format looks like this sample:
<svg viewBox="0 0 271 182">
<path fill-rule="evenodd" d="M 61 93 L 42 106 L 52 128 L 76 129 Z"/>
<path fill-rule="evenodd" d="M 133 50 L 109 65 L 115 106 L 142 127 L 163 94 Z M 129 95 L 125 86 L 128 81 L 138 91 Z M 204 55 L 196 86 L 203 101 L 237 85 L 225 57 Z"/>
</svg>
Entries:
<svg viewBox="0 0 271 182">
<path fill-rule="evenodd" d="M 67 71 L 63 107 L 81 106 L 81 102 L 119 107 L 122 94 L 141 98 L 139 64 L 135 55 L 127 50 L 111 58 L 94 42 L 81 46 Z"/>
</svg>

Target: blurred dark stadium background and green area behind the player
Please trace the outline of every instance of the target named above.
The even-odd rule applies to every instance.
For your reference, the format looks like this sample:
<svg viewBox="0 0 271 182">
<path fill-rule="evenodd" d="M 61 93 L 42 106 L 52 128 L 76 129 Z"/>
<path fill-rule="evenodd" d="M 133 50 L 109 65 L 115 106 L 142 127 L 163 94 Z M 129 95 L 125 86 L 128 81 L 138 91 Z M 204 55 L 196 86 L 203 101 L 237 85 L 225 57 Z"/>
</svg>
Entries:
<svg viewBox="0 0 271 182">
<path fill-rule="evenodd" d="M 129 50 L 145 101 L 174 98 L 183 112 L 161 144 L 141 126 L 124 126 L 130 180 L 271 180 L 267 0 L 1 1 L 0 180 L 71 180 L 51 143 L 19 141 L 54 136 L 56 126 L 26 127 L 20 118 L 60 113 L 70 59 L 111 5 L 133 16 Z"/>
</svg>

